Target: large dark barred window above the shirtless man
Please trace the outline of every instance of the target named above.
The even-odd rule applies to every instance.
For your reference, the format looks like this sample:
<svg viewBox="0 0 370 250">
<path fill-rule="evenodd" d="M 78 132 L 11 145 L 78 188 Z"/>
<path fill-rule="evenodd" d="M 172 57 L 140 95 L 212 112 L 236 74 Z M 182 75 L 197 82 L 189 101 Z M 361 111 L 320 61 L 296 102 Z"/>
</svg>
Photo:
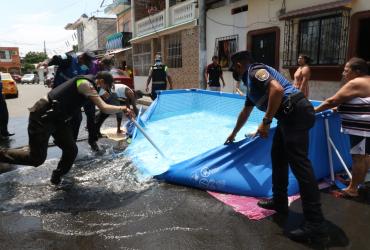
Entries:
<svg viewBox="0 0 370 250">
<path fill-rule="evenodd" d="M 349 11 L 301 20 L 287 20 L 284 34 L 284 66 L 297 65 L 299 54 L 311 65 L 342 65 L 346 60 Z"/>
</svg>

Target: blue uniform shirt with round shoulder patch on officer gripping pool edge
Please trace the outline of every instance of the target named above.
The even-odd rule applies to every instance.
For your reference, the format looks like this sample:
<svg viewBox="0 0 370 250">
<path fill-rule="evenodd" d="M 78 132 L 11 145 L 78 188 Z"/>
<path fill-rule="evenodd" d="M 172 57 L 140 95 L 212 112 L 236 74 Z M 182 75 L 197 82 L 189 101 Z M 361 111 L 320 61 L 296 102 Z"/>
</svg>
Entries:
<svg viewBox="0 0 370 250">
<path fill-rule="evenodd" d="M 242 79 L 247 87 L 245 106 L 256 106 L 258 109 L 266 111 L 269 98 L 268 86 L 273 79 L 283 87 L 284 99 L 299 91 L 274 68 L 262 63 L 251 64 Z"/>
</svg>

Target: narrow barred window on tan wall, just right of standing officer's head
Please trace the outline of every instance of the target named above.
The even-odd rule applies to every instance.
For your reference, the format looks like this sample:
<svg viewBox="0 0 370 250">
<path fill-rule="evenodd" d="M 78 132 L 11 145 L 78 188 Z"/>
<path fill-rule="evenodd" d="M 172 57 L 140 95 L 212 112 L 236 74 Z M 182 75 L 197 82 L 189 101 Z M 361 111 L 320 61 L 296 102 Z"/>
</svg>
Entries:
<svg viewBox="0 0 370 250">
<path fill-rule="evenodd" d="M 182 67 L 181 32 L 171 34 L 166 39 L 167 66 L 170 68 Z"/>
</svg>

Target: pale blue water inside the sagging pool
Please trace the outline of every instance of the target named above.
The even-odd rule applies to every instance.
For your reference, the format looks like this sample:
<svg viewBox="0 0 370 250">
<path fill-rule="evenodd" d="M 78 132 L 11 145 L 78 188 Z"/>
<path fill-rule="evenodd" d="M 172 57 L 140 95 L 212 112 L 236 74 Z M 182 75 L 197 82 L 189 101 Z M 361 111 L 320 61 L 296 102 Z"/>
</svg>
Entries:
<svg viewBox="0 0 370 250">
<path fill-rule="evenodd" d="M 156 116 L 145 124 L 144 129 L 168 159 L 163 159 L 139 132 L 127 152 L 144 174 L 161 174 L 171 164 L 223 145 L 232 132 L 236 120 L 235 116 L 209 111 L 172 114 L 163 118 Z M 236 141 L 245 138 L 246 134 L 255 132 L 259 122 L 248 121 L 239 131 Z"/>
</svg>

